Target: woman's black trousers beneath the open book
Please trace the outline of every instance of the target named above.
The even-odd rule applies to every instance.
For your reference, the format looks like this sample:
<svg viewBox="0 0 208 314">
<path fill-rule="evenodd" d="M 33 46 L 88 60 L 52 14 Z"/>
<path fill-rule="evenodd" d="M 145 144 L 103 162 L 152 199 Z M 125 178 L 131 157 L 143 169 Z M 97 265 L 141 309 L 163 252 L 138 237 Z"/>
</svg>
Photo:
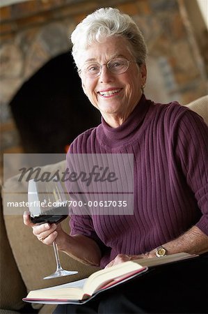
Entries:
<svg viewBox="0 0 208 314">
<path fill-rule="evenodd" d="M 54 311 L 70 313 L 208 314 L 208 255 L 155 267 L 86 304 L 59 305 Z"/>
</svg>

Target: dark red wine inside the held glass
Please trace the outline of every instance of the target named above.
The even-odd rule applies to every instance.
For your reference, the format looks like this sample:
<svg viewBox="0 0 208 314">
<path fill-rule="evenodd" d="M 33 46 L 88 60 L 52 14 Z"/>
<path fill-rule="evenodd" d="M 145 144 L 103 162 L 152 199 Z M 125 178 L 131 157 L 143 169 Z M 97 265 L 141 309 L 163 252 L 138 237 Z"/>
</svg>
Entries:
<svg viewBox="0 0 208 314">
<path fill-rule="evenodd" d="M 60 214 L 58 214 L 60 211 Z M 68 207 L 60 206 L 49 209 L 38 216 L 31 216 L 32 223 L 61 223 L 68 216 Z"/>
</svg>

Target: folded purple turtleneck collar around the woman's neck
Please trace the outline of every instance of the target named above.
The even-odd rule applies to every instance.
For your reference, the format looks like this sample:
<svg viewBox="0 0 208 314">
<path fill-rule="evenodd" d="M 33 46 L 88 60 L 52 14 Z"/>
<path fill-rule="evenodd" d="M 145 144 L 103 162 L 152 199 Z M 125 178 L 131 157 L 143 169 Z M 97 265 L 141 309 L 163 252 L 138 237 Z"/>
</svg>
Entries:
<svg viewBox="0 0 208 314">
<path fill-rule="evenodd" d="M 142 94 L 141 99 L 127 120 L 121 126 L 118 126 L 118 128 L 111 128 L 111 126 L 106 124 L 106 121 L 102 118 L 101 126 L 106 137 L 105 141 L 107 140 L 107 142 L 110 141 L 112 143 L 112 141 L 117 142 L 118 140 L 127 139 L 129 135 L 132 135 L 134 130 L 141 125 L 149 106 L 149 102 L 146 100 L 145 95 Z"/>
</svg>

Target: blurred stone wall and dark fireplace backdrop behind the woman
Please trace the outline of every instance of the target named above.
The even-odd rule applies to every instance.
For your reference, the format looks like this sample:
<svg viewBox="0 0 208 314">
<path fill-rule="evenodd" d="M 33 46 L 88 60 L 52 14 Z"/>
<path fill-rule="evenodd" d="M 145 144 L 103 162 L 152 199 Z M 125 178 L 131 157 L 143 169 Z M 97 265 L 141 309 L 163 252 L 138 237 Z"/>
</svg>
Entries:
<svg viewBox="0 0 208 314">
<path fill-rule="evenodd" d="M 131 15 L 143 32 L 147 98 L 185 105 L 207 94 L 207 0 L 1 0 L 1 156 L 65 153 L 74 137 L 99 124 L 69 38 L 103 6 Z"/>
</svg>

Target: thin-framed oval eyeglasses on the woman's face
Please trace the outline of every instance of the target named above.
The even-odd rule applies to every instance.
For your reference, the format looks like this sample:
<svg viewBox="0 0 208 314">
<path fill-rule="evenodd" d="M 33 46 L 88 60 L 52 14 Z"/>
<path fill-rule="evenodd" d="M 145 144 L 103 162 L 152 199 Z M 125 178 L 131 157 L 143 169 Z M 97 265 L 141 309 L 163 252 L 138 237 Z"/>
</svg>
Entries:
<svg viewBox="0 0 208 314">
<path fill-rule="evenodd" d="M 109 62 L 99 64 L 97 62 L 88 62 L 84 64 L 79 70 L 79 73 L 83 73 L 86 77 L 95 78 L 100 75 L 102 67 L 106 66 L 109 71 L 115 75 L 125 73 L 129 68 L 129 63 L 136 61 L 129 61 L 125 58 L 111 59 Z"/>
</svg>

